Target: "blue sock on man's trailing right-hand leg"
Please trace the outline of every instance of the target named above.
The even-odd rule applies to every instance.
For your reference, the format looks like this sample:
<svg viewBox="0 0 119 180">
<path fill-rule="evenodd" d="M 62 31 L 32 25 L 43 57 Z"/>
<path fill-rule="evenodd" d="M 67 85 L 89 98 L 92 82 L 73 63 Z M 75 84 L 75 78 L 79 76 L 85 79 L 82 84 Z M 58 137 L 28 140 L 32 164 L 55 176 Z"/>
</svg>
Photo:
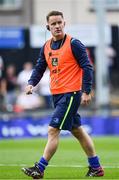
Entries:
<svg viewBox="0 0 119 180">
<path fill-rule="evenodd" d="M 88 163 L 89 163 L 89 166 L 91 166 L 92 168 L 98 168 L 98 167 L 100 167 L 100 163 L 99 163 L 99 158 L 98 158 L 98 156 L 89 157 L 89 158 L 88 158 Z"/>
</svg>

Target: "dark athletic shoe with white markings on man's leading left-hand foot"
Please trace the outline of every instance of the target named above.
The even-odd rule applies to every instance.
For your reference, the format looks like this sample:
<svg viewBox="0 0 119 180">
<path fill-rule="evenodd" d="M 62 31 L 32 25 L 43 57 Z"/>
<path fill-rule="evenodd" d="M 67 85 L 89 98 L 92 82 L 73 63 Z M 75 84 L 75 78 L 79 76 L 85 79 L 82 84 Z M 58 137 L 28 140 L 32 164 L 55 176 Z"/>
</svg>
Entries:
<svg viewBox="0 0 119 180">
<path fill-rule="evenodd" d="M 33 179 L 42 179 L 44 176 L 44 173 L 39 169 L 38 163 L 35 163 L 33 167 L 22 168 L 22 171 Z"/>
</svg>

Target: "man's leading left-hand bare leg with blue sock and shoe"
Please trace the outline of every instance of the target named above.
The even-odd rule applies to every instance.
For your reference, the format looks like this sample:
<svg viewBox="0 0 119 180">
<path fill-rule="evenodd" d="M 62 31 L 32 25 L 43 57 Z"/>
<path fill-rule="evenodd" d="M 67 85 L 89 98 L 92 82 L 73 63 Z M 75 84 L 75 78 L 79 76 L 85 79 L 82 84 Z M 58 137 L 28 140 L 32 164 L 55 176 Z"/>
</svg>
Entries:
<svg viewBox="0 0 119 180">
<path fill-rule="evenodd" d="M 48 128 L 48 141 L 44 149 L 43 156 L 35 166 L 29 168 L 22 168 L 22 171 L 31 176 L 33 179 L 42 179 L 44 176 L 44 170 L 48 165 L 49 160 L 52 158 L 57 150 L 59 143 L 60 130 L 49 126 Z"/>
</svg>

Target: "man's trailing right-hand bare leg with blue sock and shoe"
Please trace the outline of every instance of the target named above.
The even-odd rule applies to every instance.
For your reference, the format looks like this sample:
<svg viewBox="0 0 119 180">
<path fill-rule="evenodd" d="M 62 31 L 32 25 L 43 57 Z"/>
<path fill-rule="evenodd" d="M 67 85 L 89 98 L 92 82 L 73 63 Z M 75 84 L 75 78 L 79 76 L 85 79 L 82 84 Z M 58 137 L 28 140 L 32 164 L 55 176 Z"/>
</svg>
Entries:
<svg viewBox="0 0 119 180">
<path fill-rule="evenodd" d="M 88 157 L 89 171 L 87 173 L 87 176 L 103 176 L 104 171 L 100 165 L 99 158 L 96 155 L 94 143 L 91 137 L 81 126 L 78 128 L 74 128 L 72 130 L 72 134 L 80 142 L 83 150 Z"/>
</svg>

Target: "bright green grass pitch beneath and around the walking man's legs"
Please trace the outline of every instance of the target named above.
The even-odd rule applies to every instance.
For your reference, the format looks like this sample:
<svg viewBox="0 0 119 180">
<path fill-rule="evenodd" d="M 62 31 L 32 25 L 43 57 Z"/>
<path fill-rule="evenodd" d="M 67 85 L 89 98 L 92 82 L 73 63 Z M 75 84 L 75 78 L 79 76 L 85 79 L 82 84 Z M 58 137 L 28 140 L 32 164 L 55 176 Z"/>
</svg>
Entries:
<svg viewBox="0 0 119 180">
<path fill-rule="evenodd" d="M 74 138 L 60 138 L 59 148 L 45 171 L 44 179 L 119 179 L 119 137 L 93 137 L 105 176 L 86 178 L 87 159 Z M 32 166 L 43 153 L 46 139 L 0 141 L 0 179 L 31 179 L 23 166 Z"/>
</svg>

